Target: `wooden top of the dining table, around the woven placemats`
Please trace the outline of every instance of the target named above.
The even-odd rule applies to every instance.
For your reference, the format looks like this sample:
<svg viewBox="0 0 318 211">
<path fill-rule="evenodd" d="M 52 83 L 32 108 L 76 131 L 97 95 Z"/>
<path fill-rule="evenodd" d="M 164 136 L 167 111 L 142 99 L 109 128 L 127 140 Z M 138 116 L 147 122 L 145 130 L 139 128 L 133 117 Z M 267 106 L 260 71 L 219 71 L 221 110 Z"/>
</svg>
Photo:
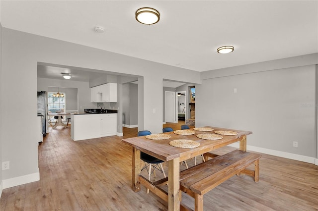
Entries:
<svg viewBox="0 0 318 211">
<path fill-rule="evenodd" d="M 206 126 L 206 127 L 210 127 L 210 126 Z M 188 130 L 195 131 L 195 134 L 182 136 L 182 135 L 174 134 L 173 132 L 167 132 L 164 134 L 170 135 L 171 138 L 165 139 L 165 140 L 150 140 L 150 139 L 147 139 L 145 136 L 139 136 L 134 138 L 123 139 L 122 141 L 133 146 L 137 150 L 140 150 L 144 153 L 147 153 L 148 155 L 154 156 L 161 160 L 168 161 L 174 158 L 179 158 L 180 161 L 182 161 L 182 160 L 186 160 L 186 159 L 204 154 L 213 149 L 217 149 L 222 146 L 235 143 L 239 140 L 239 138 L 242 135 L 252 134 L 252 132 L 250 131 L 241 131 L 241 130 L 218 128 L 218 127 L 210 127 L 210 128 L 213 128 L 214 131 L 216 130 L 235 131 L 238 133 L 238 135 L 234 135 L 234 136 L 222 135 L 223 139 L 221 140 L 204 140 L 204 139 L 200 139 L 196 137 L 196 135 L 201 133 L 214 133 L 214 131 L 202 132 L 202 131 L 196 131 L 193 129 L 188 129 Z M 177 148 L 177 147 L 170 146 L 169 142 L 176 139 L 188 139 L 188 140 L 196 141 L 200 143 L 200 146 L 197 148 L 191 148 L 191 149 L 184 149 L 184 148 Z"/>
</svg>

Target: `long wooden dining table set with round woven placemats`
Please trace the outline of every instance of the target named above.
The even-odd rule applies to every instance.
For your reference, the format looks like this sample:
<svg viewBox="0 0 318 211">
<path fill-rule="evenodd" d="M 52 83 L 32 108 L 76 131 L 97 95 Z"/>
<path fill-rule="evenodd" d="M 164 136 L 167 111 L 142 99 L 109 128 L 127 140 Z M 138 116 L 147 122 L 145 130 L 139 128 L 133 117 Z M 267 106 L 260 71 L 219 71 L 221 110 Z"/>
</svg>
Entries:
<svg viewBox="0 0 318 211">
<path fill-rule="evenodd" d="M 179 171 L 180 171 L 180 161 L 194 158 L 199 155 L 207 155 L 210 151 L 230 145 L 235 142 L 239 142 L 239 150 L 246 151 L 246 135 L 252 134 L 250 131 L 241 131 L 228 128 L 218 128 L 211 127 L 213 131 L 202 132 L 195 131 L 193 135 L 177 135 L 174 132 L 167 132 L 164 134 L 170 135 L 169 139 L 165 140 L 151 140 L 147 139 L 145 136 L 133 137 L 122 139 L 123 142 L 132 146 L 132 189 L 135 192 L 141 190 L 141 180 L 143 184 L 146 184 L 147 188 L 151 187 L 154 182 L 147 181 L 143 176 L 140 175 L 141 172 L 141 161 L 140 152 L 147 153 L 153 157 L 159 158 L 168 163 L 168 192 L 165 196 L 163 193 L 157 192 L 156 194 L 168 202 L 169 211 L 179 211 L 180 210 L 180 184 L 179 184 Z M 227 130 L 235 131 L 238 135 L 222 135 L 223 138 L 220 140 L 205 140 L 200 139 L 196 135 L 201 133 L 214 133 L 217 130 Z M 196 148 L 178 148 L 169 145 L 169 142 L 177 139 L 187 139 L 200 143 Z M 146 181 L 146 183 L 145 183 Z"/>
</svg>

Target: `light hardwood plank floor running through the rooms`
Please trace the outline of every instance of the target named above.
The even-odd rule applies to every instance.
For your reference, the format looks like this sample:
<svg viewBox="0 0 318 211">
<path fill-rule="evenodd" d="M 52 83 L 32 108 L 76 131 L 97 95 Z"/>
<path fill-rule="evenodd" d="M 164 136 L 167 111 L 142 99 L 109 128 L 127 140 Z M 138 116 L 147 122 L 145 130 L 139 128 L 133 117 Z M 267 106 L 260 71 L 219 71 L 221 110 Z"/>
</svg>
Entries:
<svg viewBox="0 0 318 211">
<path fill-rule="evenodd" d="M 176 130 L 183 123 L 163 126 Z M 131 147 L 121 139 L 137 136 L 137 128 L 124 128 L 123 132 L 124 137 L 75 142 L 70 137 L 70 128 L 50 129 L 38 147 L 40 181 L 4 189 L 0 210 L 167 210 L 166 203 L 152 193 L 147 194 L 144 187 L 138 193 L 131 190 Z M 216 153 L 233 149 L 226 147 Z M 187 162 L 193 165 L 193 160 Z M 180 168 L 184 169 L 184 164 Z M 146 176 L 147 172 L 142 174 Z M 156 175 L 163 177 L 159 172 Z M 193 199 L 186 195 L 182 195 L 182 201 L 194 207 Z M 204 195 L 204 208 L 206 211 L 318 210 L 318 166 L 262 154 L 258 183 L 248 176 L 234 176 Z"/>
</svg>

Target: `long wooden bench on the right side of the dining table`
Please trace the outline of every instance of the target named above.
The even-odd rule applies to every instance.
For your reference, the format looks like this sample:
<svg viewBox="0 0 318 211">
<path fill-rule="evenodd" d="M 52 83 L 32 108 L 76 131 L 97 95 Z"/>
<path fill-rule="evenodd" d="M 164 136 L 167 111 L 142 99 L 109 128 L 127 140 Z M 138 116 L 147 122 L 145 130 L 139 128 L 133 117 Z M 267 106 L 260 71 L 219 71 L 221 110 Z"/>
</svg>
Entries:
<svg viewBox="0 0 318 211">
<path fill-rule="evenodd" d="M 194 198 L 195 211 L 203 211 L 203 195 L 235 174 L 247 174 L 259 180 L 259 158 L 254 153 L 235 150 L 223 156 L 207 160 L 180 172 L 180 190 Z M 245 169 L 250 164 L 255 169 Z M 183 210 L 189 210 L 182 205 Z"/>
</svg>

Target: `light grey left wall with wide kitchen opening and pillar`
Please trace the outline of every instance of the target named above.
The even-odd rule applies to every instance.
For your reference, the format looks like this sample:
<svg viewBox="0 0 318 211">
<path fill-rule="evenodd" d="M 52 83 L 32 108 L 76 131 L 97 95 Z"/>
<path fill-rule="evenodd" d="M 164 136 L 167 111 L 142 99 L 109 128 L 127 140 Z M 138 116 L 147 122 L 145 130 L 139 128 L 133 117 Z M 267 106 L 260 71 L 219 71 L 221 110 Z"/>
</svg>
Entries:
<svg viewBox="0 0 318 211">
<path fill-rule="evenodd" d="M 24 110 L 28 111 L 24 117 L 30 122 L 36 122 L 35 93 L 38 90 L 38 62 L 140 76 L 138 79 L 138 128 L 150 130 L 153 133 L 159 133 L 162 130 L 163 76 L 169 75 L 171 80 L 201 82 L 200 73 L 195 71 L 3 27 L 1 28 L 1 52 L 1 121 L 6 122 L 1 125 L 1 158 L 10 161 L 10 169 L 2 171 L 5 188 L 39 180 L 38 143 L 34 141 L 36 128 L 32 124 L 27 124 L 20 127 L 19 133 L 16 133 L 16 128 L 11 126 L 20 121 L 19 111 L 25 102 L 29 104 L 24 107 Z M 67 87 L 57 84 L 55 86 Z M 77 86 L 71 85 L 71 87 Z M 12 95 L 12 93 L 21 92 L 27 92 L 29 95 L 19 95 L 18 98 Z M 80 89 L 79 92 L 81 92 Z M 90 93 L 87 92 L 86 98 L 90 98 Z M 79 98 L 79 104 L 81 102 L 88 102 L 88 100 Z M 90 107 L 90 105 L 83 105 L 79 109 Z M 155 113 L 153 113 L 154 108 Z"/>
</svg>

